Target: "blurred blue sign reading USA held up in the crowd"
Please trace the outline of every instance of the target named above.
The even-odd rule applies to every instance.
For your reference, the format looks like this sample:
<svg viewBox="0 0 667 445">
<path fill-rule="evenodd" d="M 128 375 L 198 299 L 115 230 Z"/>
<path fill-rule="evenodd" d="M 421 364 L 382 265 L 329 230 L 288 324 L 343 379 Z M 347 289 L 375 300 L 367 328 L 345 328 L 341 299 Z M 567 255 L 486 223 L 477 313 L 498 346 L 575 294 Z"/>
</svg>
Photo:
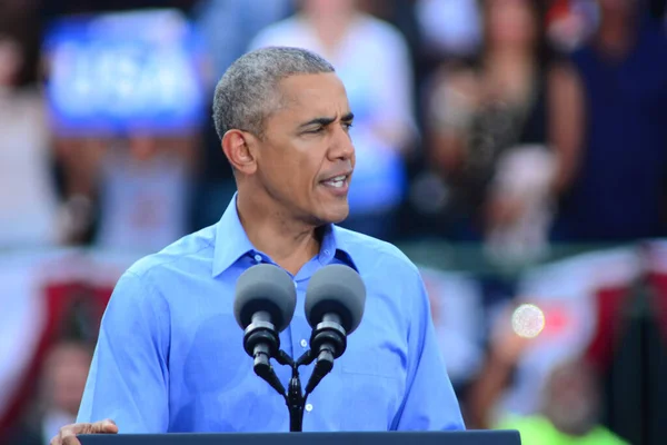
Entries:
<svg viewBox="0 0 667 445">
<path fill-rule="evenodd" d="M 179 11 L 68 17 L 43 50 L 56 132 L 173 134 L 203 119 L 206 53 Z"/>
</svg>

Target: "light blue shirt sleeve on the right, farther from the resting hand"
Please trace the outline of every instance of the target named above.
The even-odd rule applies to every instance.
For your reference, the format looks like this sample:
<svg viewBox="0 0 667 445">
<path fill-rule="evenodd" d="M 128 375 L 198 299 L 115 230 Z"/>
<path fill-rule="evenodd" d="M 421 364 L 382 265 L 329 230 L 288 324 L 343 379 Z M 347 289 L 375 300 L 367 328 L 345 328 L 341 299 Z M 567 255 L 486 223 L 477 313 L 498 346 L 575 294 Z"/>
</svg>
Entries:
<svg viewBox="0 0 667 445">
<path fill-rule="evenodd" d="M 398 431 L 465 429 L 458 399 L 437 345 L 426 287 L 416 274 L 408 334 L 408 385 L 395 421 Z"/>
</svg>

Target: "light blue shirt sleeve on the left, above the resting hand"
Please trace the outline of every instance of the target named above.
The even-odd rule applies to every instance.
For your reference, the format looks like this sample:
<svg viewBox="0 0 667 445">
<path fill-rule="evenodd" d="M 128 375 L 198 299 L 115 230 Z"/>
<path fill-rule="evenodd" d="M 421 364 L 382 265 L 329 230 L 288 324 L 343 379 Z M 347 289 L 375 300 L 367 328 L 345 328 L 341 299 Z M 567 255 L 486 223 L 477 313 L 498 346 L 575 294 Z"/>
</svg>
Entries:
<svg viewBox="0 0 667 445">
<path fill-rule="evenodd" d="M 169 308 L 127 271 L 100 327 L 77 422 L 113 419 L 120 433 L 166 433 L 169 426 Z"/>
</svg>

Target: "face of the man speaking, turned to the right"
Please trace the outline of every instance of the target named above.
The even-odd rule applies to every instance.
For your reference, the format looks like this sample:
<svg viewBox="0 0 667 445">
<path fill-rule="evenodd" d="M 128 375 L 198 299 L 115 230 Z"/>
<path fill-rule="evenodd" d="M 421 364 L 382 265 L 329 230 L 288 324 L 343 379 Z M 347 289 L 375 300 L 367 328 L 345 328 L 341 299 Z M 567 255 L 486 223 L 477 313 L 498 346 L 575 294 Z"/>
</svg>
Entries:
<svg viewBox="0 0 667 445">
<path fill-rule="evenodd" d="M 345 87 L 335 73 L 319 73 L 291 76 L 279 89 L 280 107 L 258 142 L 258 178 L 290 217 L 340 222 L 355 167 Z"/>
</svg>

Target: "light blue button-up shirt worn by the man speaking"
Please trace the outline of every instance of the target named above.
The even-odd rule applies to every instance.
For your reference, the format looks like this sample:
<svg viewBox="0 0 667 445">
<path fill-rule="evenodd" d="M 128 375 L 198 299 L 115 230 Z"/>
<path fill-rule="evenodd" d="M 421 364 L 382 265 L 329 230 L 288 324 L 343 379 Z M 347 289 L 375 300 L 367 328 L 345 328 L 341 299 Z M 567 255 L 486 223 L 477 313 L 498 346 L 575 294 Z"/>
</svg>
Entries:
<svg viewBox="0 0 667 445">
<path fill-rule="evenodd" d="M 233 317 L 239 275 L 271 258 L 252 247 L 236 196 L 219 222 L 135 265 L 102 318 L 78 422 L 112 418 L 120 433 L 288 432 L 283 398 L 252 372 Z M 280 334 L 298 358 L 311 328 L 309 278 L 342 263 L 367 288 L 364 319 L 309 396 L 305 432 L 464 429 L 420 275 L 396 247 L 330 226 L 293 276 L 297 309 Z M 275 363 L 285 387 L 290 369 Z M 306 385 L 312 365 L 301 367 Z"/>
</svg>

